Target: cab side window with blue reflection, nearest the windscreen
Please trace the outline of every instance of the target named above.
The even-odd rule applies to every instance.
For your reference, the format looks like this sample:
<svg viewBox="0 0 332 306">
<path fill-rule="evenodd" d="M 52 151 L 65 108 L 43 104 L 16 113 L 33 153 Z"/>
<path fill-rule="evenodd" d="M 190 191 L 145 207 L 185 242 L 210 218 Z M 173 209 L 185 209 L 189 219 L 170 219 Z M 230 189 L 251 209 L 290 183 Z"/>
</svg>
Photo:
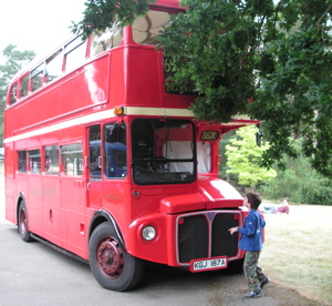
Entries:
<svg viewBox="0 0 332 306">
<path fill-rule="evenodd" d="M 104 165 L 106 177 L 127 175 L 126 125 L 110 123 L 104 128 Z"/>
</svg>

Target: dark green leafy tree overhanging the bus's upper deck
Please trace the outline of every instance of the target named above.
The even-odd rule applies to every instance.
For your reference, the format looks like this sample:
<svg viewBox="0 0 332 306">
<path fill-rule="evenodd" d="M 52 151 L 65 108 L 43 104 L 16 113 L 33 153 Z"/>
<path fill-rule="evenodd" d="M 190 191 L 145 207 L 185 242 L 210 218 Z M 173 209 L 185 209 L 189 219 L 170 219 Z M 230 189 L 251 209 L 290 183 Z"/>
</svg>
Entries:
<svg viewBox="0 0 332 306">
<path fill-rule="evenodd" d="M 85 23 L 75 29 L 89 34 L 106 27 L 107 6 L 114 7 L 110 20 L 118 13 L 131 22 L 127 16 L 133 20 L 152 2 L 113 1 L 90 1 Z M 261 120 L 270 141 L 266 167 L 284 166 L 284 153 L 299 156 L 293 139 L 304 137 L 301 152 L 311 166 L 332 177 L 331 1 L 183 0 L 181 6 L 187 12 L 173 17 L 160 45 L 174 60 L 174 82 L 191 82 L 198 93 L 190 106 L 195 116 Z"/>
</svg>

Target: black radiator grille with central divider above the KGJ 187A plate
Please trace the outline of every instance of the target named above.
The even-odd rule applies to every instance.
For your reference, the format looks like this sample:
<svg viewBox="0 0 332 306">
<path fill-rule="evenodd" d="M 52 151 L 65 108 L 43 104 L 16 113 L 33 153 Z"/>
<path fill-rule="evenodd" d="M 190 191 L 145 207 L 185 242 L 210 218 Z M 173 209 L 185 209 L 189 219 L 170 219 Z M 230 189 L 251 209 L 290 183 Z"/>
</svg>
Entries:
<svg viewBox="0 0 332 306">
<path fill-rule="evenodd" d="M 230 235 L 228 228 L 238 226 L 231 213 L 201 213 L 180 218 L 178 224 L 178 259 L 188 264 L 191 259 L 227 256 L 238 252 L 238 234 Z"/>
</svg>

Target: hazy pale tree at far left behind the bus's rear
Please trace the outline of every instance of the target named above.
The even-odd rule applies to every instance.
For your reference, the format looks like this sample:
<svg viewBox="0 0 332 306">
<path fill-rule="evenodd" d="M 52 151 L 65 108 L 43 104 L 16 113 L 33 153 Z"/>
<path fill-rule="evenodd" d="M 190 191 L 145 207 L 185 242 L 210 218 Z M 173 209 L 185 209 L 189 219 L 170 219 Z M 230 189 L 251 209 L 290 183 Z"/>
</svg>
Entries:
<svg viewBox="0 0 332 306">
<path fill-rule="evenodd" d="M 0 64 L 0 140 L 3 135 L 3 110 L 10 80 L 23 65 L 32 61 L 35 53 L 33 51 L 19 51 L 17 45 L 9 44 L 3 49 L 1 55 L 1 61 L 4 63 Z"/>
</svg>

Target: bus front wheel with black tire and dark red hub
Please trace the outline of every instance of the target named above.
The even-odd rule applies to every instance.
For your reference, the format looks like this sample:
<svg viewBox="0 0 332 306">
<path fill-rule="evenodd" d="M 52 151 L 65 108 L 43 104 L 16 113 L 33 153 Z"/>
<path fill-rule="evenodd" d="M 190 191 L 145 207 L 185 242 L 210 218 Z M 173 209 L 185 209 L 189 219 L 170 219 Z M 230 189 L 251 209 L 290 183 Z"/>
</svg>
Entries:
<svg viewBox="0 0 332 306">
<path fill-rule="evenodd" d="M 95 279 L 106 289 L 132 289 L 144 275 L 143 261 L 126 252 L 114 227 L 107 222 L 98 225 L 92 233 L 89 258 Z"/>
</svg>

